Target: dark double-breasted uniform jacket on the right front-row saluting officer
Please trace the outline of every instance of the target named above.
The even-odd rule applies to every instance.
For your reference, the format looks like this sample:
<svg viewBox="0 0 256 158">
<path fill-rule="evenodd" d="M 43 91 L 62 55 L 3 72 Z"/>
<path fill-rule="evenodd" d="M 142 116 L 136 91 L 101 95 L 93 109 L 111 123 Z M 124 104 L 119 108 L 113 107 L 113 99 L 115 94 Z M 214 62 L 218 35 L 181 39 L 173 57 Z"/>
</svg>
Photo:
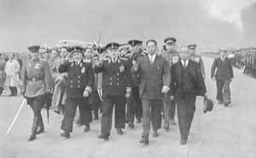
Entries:
<svg viewBox="0 0 256 158">
<path fill-rule="evenodd" d="M 108 58 L 103 60 L 100 67 L 94 67 L 95 73 L 102 72 L 102 93 L 103 95 L 125 95 L 126 88 L 131 88 L 131 67 L 127 59 L 118 58 L 116 63 Z"/>
</svg>

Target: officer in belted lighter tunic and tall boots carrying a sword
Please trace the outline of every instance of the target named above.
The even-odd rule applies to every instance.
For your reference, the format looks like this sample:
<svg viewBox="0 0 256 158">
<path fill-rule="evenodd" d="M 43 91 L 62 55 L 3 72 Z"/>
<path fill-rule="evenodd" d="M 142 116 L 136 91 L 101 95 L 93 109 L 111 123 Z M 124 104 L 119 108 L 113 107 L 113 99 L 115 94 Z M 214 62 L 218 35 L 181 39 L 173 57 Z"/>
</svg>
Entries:
<svg viewBox="0 0 256 158">
<path fill-rule="evenodd" d="M 44 60 L 38 58 L 39 48 L 39 46 L 28 47 L 32 59 L 26 61 L 23 76 L 22 94 L 24 98 L 27 99 L 27 103 L 32 107 L 34 112 L 32 133 L 28 141 L 35 139 L 37 133 L 44 132 L 41 110 L 44 107 L 46 98 L 49 98 L 49 93 L 52 88 L 49 65 Z"/>
</svg>

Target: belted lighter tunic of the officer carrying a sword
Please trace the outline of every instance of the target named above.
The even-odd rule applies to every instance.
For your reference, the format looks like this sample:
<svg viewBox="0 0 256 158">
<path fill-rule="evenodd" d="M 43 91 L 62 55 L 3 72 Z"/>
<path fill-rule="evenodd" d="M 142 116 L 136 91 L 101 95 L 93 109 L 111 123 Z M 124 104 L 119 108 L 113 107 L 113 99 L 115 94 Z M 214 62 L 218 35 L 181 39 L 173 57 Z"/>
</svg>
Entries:
<svg viewBox="0 0 256 158">
<path fill-rule="evenodd" d="M 26 61 L 23 76 L 22 92 L 29 98 L 50 93 L 52 79 L 49 72 L 49 65 L 41 59 L 30 59 Z"/>
</svg>

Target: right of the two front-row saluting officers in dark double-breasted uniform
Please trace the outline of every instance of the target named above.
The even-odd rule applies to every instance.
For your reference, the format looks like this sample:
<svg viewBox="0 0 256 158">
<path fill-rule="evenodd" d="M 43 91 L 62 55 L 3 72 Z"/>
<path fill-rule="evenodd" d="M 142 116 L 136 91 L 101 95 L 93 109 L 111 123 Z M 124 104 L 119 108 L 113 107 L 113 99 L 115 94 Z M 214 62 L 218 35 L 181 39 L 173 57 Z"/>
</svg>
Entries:
<svg viewBox="0 0 256 158">
<path fill-rule="evenodd" d="M 106 45 L 109 58 L 102 56 L 96 64 L 95 73 L 102 73 L 102 133 L 98 138 L 108 140 L 112 126 L 113 104 L 115 104 L 115 128 L 122 135 L 125 128 L 125 97 L 131 95 L 131 67 L 127 59 L 119 58 L 119 43 L 110 42 Z"/>
</svg>

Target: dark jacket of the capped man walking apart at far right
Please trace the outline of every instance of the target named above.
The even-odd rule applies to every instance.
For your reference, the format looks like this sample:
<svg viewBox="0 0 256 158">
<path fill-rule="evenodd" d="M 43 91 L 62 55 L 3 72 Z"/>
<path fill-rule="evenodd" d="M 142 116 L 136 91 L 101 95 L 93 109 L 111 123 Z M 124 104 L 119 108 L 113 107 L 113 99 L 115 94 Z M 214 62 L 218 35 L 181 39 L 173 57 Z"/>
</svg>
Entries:
<svg viewBox="0 0 256 158">
<path fill-rule="evenodd" d="M 217 71 L 215 73 L 215 70 Z M 230 80 L 234 77 L 231 59 L 224 58 L 224 61 L 218 57 L 212 64 L 211 78 L 215 76 L 217 80 Z"/>
</svg>

